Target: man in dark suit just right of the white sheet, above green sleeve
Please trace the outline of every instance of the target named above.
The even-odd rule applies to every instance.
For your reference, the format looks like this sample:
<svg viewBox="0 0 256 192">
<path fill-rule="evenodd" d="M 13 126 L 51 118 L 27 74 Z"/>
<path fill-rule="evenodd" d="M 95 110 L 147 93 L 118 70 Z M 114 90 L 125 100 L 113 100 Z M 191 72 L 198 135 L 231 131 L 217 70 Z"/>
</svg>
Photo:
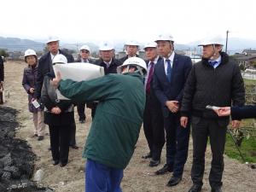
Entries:
<svg viewBox="0 0 256 192">
<path fill-rule="evenodd" d="M 114 58 L 114 47 L 112 43 L 102 42 L 99 47 L 99 56 L 100 59 L 96 60 L 94 64 L 104 67 L 105 75 L 109 73 L 117 73 L 116 68 L 122 63 Z M 90 104 L 89 108 L 91 108 L 91 117 L 93 119 L 96 113 L 97 102 L 90 102 L 88 104 Z"/>
</svg>

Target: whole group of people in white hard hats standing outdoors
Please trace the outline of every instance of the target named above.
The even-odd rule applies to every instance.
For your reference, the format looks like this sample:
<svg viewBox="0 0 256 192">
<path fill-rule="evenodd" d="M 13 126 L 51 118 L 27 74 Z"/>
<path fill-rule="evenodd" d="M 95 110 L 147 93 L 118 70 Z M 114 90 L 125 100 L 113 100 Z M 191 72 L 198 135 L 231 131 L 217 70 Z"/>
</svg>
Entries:
<svg viewBox="0 0 256 192">
<path fill-rule="evenodd" d="M 25 53 L 28 67 L 23 85 L 32 107 L 34 135 L 38 140 L 44 139 L 44 116 L 44 123 L 49 125 L 53 164 L 66 166 L 68 146 L 70 143 L 76 146 L 73 106 L 77 105 L 81 123 L 86 118 L 85 103 L 91 108 L 93 121 L 83 154 L 87 158 L 86 192 L 121 191 L 123 171 L 131 160 L 142 124 L 149 149 L 142 158 L 150 159 L 148 166 L 160 165 L 166 143 L 166 163 L 155 174 L 172 172 L 167 182 L 170 187 L 182 180 L 192 125 L 193 186 L 189 192 L 201 191 L 209 137 L 212 148 L 209 182 L 212 192 L 222 191 L 225 132 L 230 121 L 224 115 L 230 114 L 230 108 L 220 108 L 215 113 L 206 106 L 239 108 L 244 105 L 245 90 L 240 69 L 222 51 L 220 39 L 201 42 L 202 60 L 194 65 L 188 56 L 175 52 L 171 34 L 161 34 L 154 42 L 145 44 L 146 61 L 137 55 L 139 44 L 135 41 L 125 44 L 127 55 L 119 60 L 114 57 L 112 44 L 106 42 L 99 47 L 97 61 L 90 59 L 90 48 L 84 45 L 79 62 L 104 67 L 105 76 L 81 82 L 62 80 L 60 73 L 55 76 L 53 64 L 73 62 L 73 56 L 59 49 L 58 38 L 49 39 L 47 45 L 49 52 L 39 61 L 33 50 Z M 34 82 L 27 77 L 28 73 L 36 73 Z M 56 89 L 71 100 L 58 100 Z M 43 108 L 35 109 L 32 105 L 34 101 L 42 103 L 44 115 Z M 239 126 L 240 120 L 235 115 L 232 125 Z"/>
</svg>

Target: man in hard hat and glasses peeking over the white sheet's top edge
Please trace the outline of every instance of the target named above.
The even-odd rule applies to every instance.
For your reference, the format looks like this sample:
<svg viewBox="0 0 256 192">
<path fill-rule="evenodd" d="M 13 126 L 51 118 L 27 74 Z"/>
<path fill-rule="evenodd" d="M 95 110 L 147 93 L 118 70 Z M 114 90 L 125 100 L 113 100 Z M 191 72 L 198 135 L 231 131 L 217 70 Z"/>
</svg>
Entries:
<svg viewBox="0 0 256 192">
<path fill-rule="evenodd" d="M 90 59 L 90 47 L 86 44 L 84 44 L 80 48 L 80 55 L 77 62 L 83 62 L 83 63 L 93 63 L 94 61 Z M 90 105 L 90 104 L 89 104 Z M 79 122 L 83 124 L 85 122 L 86 116 L 84 113 L 85 109 L 85 103 L 77 103 L 77 109 L 79 113 Z"/>
</svg>

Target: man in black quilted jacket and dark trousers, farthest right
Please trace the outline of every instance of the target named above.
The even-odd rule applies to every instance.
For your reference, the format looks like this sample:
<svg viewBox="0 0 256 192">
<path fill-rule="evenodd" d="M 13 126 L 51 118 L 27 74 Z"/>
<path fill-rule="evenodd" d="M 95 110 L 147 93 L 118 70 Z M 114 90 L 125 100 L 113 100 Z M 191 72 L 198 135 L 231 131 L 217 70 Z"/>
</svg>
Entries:
<svg viewBox="0 0 256 192">
<path fill-rule="evenodd" d="M 244 84 L 240 68 L 229 55 L 222 52 L 220 38 L 208 38 L 202 46 L 202 60 L 192 67 L 183 91 L 181 125 L 187 127 L 192 116 L 193 165 L 191 178 L 193 186 L 189 192 L 199 192 L 205 172 L 205 152 L 210 138 L 212 167 L 209 182 L 212 192 L 222 191 L 224 171 L 224 145 L 229 117 L 218 117 L 207 105 L 224 107 L 241 106 L 245 102 Z M 233 119 L 232 126 L 238 127 L 240 119 Z"/>
</svg>

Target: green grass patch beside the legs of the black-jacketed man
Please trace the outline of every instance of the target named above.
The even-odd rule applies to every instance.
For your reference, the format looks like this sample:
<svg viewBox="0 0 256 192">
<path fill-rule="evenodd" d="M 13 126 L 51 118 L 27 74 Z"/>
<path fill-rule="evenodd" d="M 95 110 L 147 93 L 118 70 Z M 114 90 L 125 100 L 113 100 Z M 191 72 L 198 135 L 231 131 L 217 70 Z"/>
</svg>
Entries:
<svg viewBox="0 0 256 192">
<path fill-rule="evenodd" d="M 241 154 L 243 155 L 244 159 L 250 163 L 256 163 L 256 138 L 249 137 L 244 138 L 241 143 Z M 225 152 L 224 154 L 228 155 L 232 159 L 236 159 L 242 162 L 241 156 L 236 149 L 235 143 L 233 142 L 230 134 L 227 133 L 226 135 L 226 144 L 225 144 Z"/>
</svg>

